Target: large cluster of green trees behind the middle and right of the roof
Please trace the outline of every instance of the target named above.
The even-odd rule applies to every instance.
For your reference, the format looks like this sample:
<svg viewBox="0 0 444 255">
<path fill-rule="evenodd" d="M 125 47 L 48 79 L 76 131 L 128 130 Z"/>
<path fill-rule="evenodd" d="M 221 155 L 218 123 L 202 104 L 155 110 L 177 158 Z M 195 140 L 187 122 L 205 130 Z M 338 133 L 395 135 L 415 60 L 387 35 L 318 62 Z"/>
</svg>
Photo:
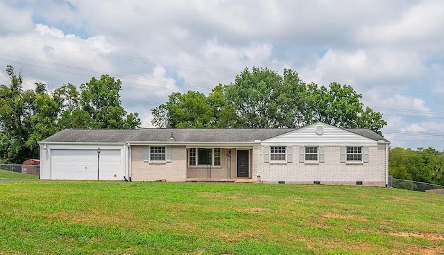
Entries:
<svg viewBox="0 0 444 255">
<path fill-rule="evenodd" d="M 340 128 L 368 128 L 381 134 L 382 114 L 364 107 L 349 85 L 307 84 L 298 73 L 267 68 L 244 69 L 228 85 L 206 96 L 175 92 L 152 109 L 158 128 L 298 128 L 322 121 Z"/>
</svg>

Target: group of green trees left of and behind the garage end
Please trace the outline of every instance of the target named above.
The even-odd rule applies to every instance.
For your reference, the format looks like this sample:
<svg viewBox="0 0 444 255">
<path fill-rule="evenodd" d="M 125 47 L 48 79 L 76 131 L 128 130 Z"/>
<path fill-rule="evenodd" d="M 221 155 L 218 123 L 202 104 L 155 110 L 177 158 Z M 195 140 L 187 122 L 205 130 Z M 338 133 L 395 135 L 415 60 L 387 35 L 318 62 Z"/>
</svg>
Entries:
<svg viewBox="0 0 444 255">
<path fill-rule="evenodd" d="M 24 89 L 22 73 L 8 65 L 9 85 L 0 85 L 0 160 L 39 158 L 38 141 L 65 128 L 139 128 L 137 113 L 120 100 L 121 81 L 108 75 L 65 84 L 49 93 L 42 82 Z"/>
</svg>

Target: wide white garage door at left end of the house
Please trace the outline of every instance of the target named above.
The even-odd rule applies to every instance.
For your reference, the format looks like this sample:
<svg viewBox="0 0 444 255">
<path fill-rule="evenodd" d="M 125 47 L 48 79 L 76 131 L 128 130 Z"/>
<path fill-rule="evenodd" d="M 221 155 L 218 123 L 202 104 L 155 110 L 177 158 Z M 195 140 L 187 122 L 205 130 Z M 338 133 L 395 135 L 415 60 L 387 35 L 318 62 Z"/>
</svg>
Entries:
<svg viewBox="0 0 444 255">
<path fill-rule="evenodd" d="M 97 179 L 97 150 L 51 150 L 51 179 Z M 101 150 L 99 179 L 123 179 L 120 150 Z"/>
</svg>

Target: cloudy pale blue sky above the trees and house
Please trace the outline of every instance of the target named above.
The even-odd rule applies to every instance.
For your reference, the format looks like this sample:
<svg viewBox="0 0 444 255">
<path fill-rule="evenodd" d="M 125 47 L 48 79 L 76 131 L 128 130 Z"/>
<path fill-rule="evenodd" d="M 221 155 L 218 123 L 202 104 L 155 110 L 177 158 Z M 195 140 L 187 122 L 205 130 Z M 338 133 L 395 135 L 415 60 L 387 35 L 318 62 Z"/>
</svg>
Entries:
<svg viewBox="0 0 444 255">
<path fill-rule="evenodd" d="M 151 128 L 168 95 L 209 94 L 246 67 L 351 85 L 392 147 L 444 150 L 442 0 L 0 0 L 0 84 L 110 74 Z"/>
</svg>

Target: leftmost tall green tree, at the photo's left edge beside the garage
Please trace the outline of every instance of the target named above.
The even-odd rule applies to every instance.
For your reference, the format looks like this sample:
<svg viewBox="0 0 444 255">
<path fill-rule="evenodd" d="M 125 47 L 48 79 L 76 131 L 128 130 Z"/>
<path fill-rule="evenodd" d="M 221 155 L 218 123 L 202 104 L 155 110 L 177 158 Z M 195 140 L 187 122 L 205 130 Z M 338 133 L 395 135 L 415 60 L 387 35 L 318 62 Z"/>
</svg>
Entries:
<svg viewBox="0 0 444 255">
<path fill-rule="evenodd" d="M 10 85 L 0 86 L 0 157 L 22 163 L 38 157 L 37 141 L 58 131 L 56 101 L 46 94 L 46 85 L 35 83 L 35 91 L 22 88 L 22 74 L 6 68 Z"/>
</svg>

